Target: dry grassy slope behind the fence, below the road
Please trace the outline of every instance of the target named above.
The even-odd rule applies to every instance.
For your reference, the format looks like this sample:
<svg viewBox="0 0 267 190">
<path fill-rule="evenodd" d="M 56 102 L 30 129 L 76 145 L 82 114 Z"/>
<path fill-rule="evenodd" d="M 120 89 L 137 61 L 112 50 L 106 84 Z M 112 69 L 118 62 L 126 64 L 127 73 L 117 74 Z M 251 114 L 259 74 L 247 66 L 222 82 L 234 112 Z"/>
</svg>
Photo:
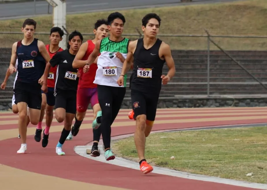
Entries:
<svg viewBox="0 0 267 190">
<path fill-rule="evenodd" d="M 67 15 L 66 27 L 69 32 L 78 29 L 84 34 L 92 33 L 94 22 L 99 18 L 107 18 L 111 12 L 113 11 Z M 205 35 L 203 28 L 208 29 L 212 35 L 266 35 L 267 29 L 266 0 L 132 9 L 120 12 L 126 18 L 124 34 L 138 34 L 136 28 L 141 31 L 141 19 L 149 12 L 155 12 L 161 16 L 160 34 L 164 35 Z M 34 19 L 38 23 L 37 32 L 49 32 L 53 26 L 52 16 L 42 16 Z M 20 32 L 23 20 L 1 20 L 0 31 Z M 11 47 L 12 43 L 20 40 L 21 37 L 22 35 L 0 34 L 0 43 L 6 47 Z M 38 35 L 37 37 L 48 43 L 47 35 Z M 92 36 L 85 35 L 85 39 L 91 38 Z M 134 40 L 138 36 L 129 38 Z M 170 44 L 172 49 L 207 49 L 207 39 L 205 37 L 160 38 Z M 267 44 L 267 39 L 250 38 L 220 38 L 215 39 L 215 41 L 227 50 L 265 50 Z M 213 45 L 211 48 L 216 49 Z"/>
</svg>

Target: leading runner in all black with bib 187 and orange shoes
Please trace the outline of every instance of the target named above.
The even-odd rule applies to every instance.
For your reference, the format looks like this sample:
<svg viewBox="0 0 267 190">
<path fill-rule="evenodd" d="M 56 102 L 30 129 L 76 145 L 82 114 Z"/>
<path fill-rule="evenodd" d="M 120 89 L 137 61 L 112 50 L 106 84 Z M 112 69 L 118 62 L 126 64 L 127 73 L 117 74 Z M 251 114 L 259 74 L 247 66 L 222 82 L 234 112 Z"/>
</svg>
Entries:
<svg viewBox="0 0 267 190">
<path fill-rule="evenodd" d="M 129 70 L 130 60 L 134 57 L 134 69 L 130 78 L 131 101 L 136 118 L 134 142 L 140 159 L 140 170 L 144 174 L 153 170 L 144 157 L 144 150 L 146 137 L 151 132 L 155 120 L 161 85 L 167 84 L 175 75 L 170 47 L 156 37 L 160 21 L 160 17 L 154 13 L 144 16 L 142 19 L 144 38 L 130 42 L 129 53 L 118 79 L 118 85 L 123 85 L 123 75 Z M 162 75 L 164 62 L 169 68 L 166 76 Z"/>
</svg>

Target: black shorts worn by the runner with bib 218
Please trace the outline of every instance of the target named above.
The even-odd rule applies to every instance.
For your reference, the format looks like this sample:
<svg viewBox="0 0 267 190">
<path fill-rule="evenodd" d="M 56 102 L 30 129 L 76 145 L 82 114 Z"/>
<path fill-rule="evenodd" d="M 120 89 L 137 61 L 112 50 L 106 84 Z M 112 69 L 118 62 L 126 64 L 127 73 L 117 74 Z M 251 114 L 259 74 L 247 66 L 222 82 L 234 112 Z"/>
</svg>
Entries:
<svg viewBox="0 0 267 190">
<path fill-rule="evenodd" d="M 66 113 L 76 113 L 76 91 L 57 89 L 55 95 L 55 109 L 64 108 Z"/>
</svg>

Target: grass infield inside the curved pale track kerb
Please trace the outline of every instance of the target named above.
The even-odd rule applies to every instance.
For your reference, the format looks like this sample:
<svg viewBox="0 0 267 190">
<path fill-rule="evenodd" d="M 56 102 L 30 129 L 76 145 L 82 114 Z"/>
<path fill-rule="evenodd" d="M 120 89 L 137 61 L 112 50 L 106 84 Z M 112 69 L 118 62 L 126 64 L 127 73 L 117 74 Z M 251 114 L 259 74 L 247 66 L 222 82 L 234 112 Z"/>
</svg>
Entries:
<svg viewBox="0 0 267 190">
<path fill-rule="evenodd" d="M 133 137 L 114 141 L 112 149 L 137 161 Z M 213 129 L 151 134 L 145 156 L 152 165 L 173 170 L 267 183 L 266 149 L 267 127 Z"/>
</svg>

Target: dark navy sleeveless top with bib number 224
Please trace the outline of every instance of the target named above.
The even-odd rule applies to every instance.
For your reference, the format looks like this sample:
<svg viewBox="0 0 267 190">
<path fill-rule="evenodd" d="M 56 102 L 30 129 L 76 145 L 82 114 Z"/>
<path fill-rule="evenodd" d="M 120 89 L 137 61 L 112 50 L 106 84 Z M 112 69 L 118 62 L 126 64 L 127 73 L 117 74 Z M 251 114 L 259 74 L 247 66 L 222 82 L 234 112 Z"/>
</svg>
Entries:
<svg viewBox="0 0 267 190">
<path fill-rule="evenodd" d="M 16 54 L 18 57 L 17 80 L 25 83 L 38 84 L 38 80 L 44 73 L 46 61 L 38 48 L 38 39 L 30 45 L 23 45 L 18 41 Z"/>
</svg>

